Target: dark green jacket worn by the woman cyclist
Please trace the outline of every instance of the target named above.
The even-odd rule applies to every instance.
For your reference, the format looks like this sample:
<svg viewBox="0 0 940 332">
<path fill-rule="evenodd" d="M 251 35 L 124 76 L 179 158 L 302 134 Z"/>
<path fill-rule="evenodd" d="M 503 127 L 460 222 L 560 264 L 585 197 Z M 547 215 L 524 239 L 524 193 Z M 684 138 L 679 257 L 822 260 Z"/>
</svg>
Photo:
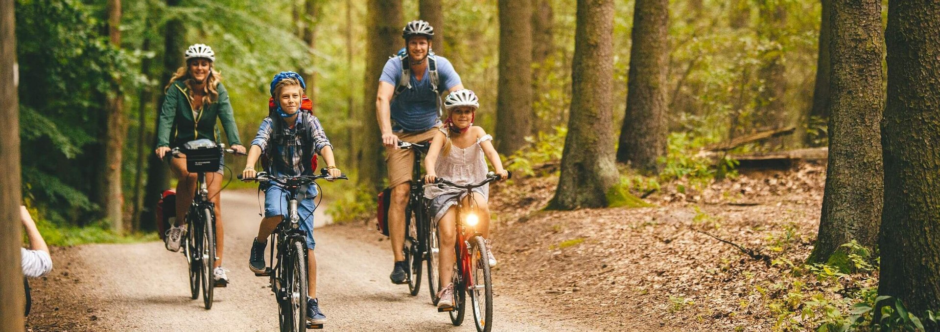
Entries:
<svg viewBox="0 0 940 332">
<path fill-rule="evenodd" d="M 238 127 L 235 126 L 235 117 L 232 105 L 228 101 L 228 91 L 225 85 L 219 83 L 216 88 L 219 92 L 218 100 L 203 105 L 202 112 L 193 117 L 193 105 L 189 102 L 189 88 L 182 80 L 170 84 L 164 97 L 164 105 L 160 110 L 160 121 L 157 123 L 157 147 L 180 146 L 183 143 L 210 139 L 219 142 L 219 128 L 215 127 L 215 120 L 222 120 L 222 127 L 226 129 L 228 144 L 241 145 Z"/>
</svg>

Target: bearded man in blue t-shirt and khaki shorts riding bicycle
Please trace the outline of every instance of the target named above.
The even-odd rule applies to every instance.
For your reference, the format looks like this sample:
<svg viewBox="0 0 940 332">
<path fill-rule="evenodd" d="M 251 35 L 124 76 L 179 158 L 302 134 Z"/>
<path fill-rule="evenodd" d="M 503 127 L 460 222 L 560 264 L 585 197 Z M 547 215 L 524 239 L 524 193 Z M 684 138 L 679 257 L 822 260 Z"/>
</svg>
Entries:
<svg viewBox="0 0 940 332">
<path fill-rule="evenodd" d="M 389 278 L 407 283 L 402 246 L 405 237 L 405 205 L 412 180 L 415 153 L 397 148 L 399 141 L 428 142 L 442 126 L 441 94 L 463 89 L 461 77 L 443 56 L 431 52 L 434 28 L 424 21 L 412 21 L 402 29 L 406 54 L 385 63 L 376 97 L 376 117 L 385 145 L 389 187 L 388 228 L 395 267 Z"/>
</svg>

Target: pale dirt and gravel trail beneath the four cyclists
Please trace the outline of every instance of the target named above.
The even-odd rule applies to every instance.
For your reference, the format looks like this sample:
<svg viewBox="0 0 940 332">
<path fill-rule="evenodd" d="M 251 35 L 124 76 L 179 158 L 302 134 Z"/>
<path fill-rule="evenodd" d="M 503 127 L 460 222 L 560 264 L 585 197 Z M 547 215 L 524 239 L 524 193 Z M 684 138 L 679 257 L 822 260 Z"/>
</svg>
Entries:
<svg viewBox="0 0 940 332">
<path fill-rule="evenodd" d="M 245 266 L 249 241 L 258 230 L 257 197 L 254 192 L 232 190 L 223 193 L 223 201 L 224 265 L 231 270 L 228 276 L 232 283 L 216 289 L 211 310 L 202 309 L 201 298 L 189 299 L 185 260 L 180 253 L 166 251 L 162 243 L 88 245 L 62 250 L 58 255 L 54 252 L 69 262 L 55 262 L 55 277 L 39 284 L 42 289 L 36 305 L 44 308 L 31 317 L 31 324 L 42 326 L 45 318 L 68 317 L 63 311 L 81 310 L 71 316 L 81 317 L 78 319 L 87 324 L 71 324 L 71 331 L 276 330 L 276 306 L 268 279 L 255 277 Z M 329 318 L 325 329 L 475 330 L 472 313 L 467 312 L 462 326 L 453 326 L 446 313 L 431 306 L 426 289 L 413 297 L 407 294 L 406 286 L 391 284 L 387 242 L 356 232 L 363 232 L 363 228 L 328 226 L 316 231 L 319 297 Z M 500 294 L 498 272 L 495 277 L 495 293 Z M 560 322 L 561 312 L 525 306 L 508 295 L 495 297 L 494 304 L 493 331 L 591 330 L 571 321 Z M 53 306 L 55 311 L 49 308 Z M 69 308 L 58 311 L 58 306 Z"/>
</svg>

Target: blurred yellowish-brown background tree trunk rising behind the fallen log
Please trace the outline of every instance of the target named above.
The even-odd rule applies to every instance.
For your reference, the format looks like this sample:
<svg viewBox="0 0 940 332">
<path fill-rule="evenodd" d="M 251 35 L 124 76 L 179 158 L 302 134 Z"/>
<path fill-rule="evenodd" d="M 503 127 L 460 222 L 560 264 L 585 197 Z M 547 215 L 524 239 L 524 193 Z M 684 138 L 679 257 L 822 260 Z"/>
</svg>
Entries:
<svg viewBox="0 0 940 332">
<path fill-rule="evenodd" d="M 786 68 L 783 66 L 783 47 L 780 44 L 783 31 L 786 30 L 787 10 L 782 4 L 771 0 L 761 0 L 760 29 L 761 39 L 771 42 L 760 54 L 761 66 L 758 77 L 763 88 L 758 92 L 757 107 L 752 119 L 752 128 L 785 128 L 791 125 L 790 114 L 784 107 L 783 98 L 787 92 Z M 771 140 L 774 146 L 782 145 L 783 139 Z"/>
</svg>

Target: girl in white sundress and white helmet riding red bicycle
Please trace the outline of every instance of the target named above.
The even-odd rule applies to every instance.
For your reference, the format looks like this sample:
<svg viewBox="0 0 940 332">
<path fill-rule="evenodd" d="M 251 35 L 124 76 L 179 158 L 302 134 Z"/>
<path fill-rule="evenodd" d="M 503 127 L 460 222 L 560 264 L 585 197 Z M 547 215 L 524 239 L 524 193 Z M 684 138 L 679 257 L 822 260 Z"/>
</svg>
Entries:
<svg viewBox="0 0 940 332">
<path fill-rule="evenodd" d="M 426 171 L 425 183 L 434 183 L 437 177 L 445 178 L 453 183 L 465 185 L 478 183 L 486 179 L 486 160 L 490 159 L 495 173 L 505 179 L 508 172 L 503 169 L 499 154 L 493 148 L 493 136 L 473 126 L 474 117 L 479 102 L 473 91 L 462 89 L 454 91 L 444 102 L 448 116 L 444 127 L 440 129 L 431 142 L 428 156 L 424 159 Z M 438 160 L 438 156 L 442 156 Z M 438 162 L 440 161 L 440 162 Z M 490 237 L 490 209 L 487 205 L 489 185 L 473 189 L 473 197 L 468 197 L 459 189 L 438 188 L 426 185 L 425 197 L 431 200 L 429 204 L 431 222 L 437 222 L 440 243 L 440 284 L 447 280 L 446 287 L 437 294 L 440 300 L 438 308 L 447 308 L 454 305 L 453 283 L 450 283 L 453 274 L 453 265 L 456 260 L 454 252 L 454 239 L 457 232 L 456 207 L 458 200 L 468 203 L 474 200 L 478 206 L 478 230 L 486 238 L 486 248 L 489 252 L 488 263 L 496 265 L 493 257 L 493 241 Z"/>
</svg>

